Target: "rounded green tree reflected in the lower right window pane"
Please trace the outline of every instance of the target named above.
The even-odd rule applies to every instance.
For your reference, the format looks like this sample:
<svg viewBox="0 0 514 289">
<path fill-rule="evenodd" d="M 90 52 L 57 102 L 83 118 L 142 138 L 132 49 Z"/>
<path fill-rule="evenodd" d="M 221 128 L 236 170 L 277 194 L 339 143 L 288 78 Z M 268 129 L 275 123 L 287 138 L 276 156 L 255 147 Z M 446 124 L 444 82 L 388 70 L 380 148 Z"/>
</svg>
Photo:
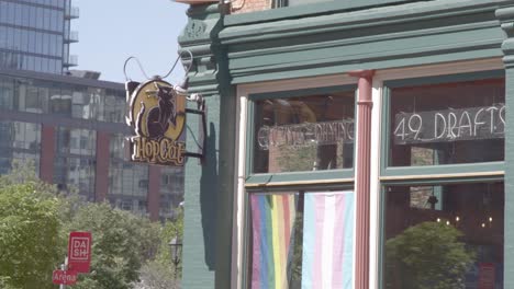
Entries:
<svg viewBox="0 0 514 289">
<path fill-rule="evenodd" d="M 387 288 L 463 288 L 474 253 L 459 242 L 461 235 L 451 226 L 423 222 L 388 240 Z"/>
</svg>

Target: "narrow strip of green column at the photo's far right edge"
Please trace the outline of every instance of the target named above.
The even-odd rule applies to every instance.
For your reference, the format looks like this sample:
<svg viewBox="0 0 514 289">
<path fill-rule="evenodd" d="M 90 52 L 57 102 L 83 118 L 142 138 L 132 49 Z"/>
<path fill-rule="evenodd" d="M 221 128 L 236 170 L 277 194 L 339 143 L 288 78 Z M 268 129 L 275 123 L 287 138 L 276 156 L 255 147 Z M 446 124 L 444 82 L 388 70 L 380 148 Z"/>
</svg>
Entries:
<svg viewBox="0 0 514 289">
<path fill-rule="evenodd" d="M 504 288 L 514 288 L 514 5 L 496 10 L 505 39 L 502 44 L 505 65 L 505 239 Z"/>
</svg>

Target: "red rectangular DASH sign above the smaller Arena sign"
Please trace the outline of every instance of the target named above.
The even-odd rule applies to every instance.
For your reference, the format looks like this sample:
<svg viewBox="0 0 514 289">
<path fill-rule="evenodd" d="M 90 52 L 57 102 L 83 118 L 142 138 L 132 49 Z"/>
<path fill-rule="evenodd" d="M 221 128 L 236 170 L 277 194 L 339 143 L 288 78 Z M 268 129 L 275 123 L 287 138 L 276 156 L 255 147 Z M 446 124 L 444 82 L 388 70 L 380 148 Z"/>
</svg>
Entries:
<svg viewBox="0 0 514 289">
<path fill-rule="evenodd" d="M 91 232 L 71 232 L 68 242 L 68 268 L 89 273 L 91 263 Z"/>
</svg>

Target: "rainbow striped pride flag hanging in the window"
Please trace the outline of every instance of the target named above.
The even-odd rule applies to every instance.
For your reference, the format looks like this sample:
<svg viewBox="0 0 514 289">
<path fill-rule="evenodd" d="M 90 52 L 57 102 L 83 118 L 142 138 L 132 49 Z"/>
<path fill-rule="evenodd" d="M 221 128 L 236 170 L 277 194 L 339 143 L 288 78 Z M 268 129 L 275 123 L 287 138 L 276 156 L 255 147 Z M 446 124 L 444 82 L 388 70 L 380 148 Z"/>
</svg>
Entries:
<svg viewBox="0 0 514 289">
<path fill-rule="evenodd" d="M 287 289 L 297 194 L 253 194 L 252 289 Z"/>
</svg>

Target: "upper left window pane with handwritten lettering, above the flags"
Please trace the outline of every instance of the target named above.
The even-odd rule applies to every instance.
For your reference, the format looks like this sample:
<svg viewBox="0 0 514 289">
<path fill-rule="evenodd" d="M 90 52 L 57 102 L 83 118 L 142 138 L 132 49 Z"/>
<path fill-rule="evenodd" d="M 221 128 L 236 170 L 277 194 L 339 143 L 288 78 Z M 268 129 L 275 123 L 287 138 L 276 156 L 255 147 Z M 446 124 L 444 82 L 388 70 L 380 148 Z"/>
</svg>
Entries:
<svg viewBox="0 0 514 289">
<path fill-rule="evenodd" d="M 254 173 L 353 166 L 353 91 L 255 102 Z"/>
</svg>

